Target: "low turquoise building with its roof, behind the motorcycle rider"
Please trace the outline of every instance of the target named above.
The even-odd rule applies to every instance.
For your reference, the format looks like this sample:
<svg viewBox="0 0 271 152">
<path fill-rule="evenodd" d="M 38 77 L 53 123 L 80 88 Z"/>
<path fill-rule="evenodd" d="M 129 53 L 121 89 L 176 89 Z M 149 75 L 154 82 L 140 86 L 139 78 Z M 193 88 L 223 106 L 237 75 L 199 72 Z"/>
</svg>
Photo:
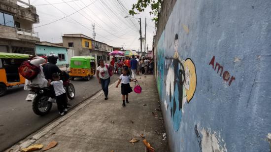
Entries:
<svg viewBox="0 0 271 152">
<path fill-rule="evenodd" d="M 44 41 L 37 43 L 35 49 L 36 55 L 38 56 L 47 56 L 51 53 L 58 55 L 58 66 L 66 66 L 66 64 L 69 64 L 70 57 L 68 56 L 67 47 Z"/>
</svg>

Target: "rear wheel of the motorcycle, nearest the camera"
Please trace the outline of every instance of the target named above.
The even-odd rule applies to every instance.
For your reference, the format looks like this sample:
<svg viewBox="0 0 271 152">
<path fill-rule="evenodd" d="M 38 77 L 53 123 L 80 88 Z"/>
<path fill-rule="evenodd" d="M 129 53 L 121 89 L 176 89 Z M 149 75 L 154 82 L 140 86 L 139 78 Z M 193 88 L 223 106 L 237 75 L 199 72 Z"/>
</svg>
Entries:
<svg viewBox="0 0 271 152">
<path fill-rule="evenodd" d="M 37 115 L 46 115 L 52 109 L 52 103 L 48 102 L 49 97 L 37 95 L 32 103 L 32 110 Z"/>
</svg>

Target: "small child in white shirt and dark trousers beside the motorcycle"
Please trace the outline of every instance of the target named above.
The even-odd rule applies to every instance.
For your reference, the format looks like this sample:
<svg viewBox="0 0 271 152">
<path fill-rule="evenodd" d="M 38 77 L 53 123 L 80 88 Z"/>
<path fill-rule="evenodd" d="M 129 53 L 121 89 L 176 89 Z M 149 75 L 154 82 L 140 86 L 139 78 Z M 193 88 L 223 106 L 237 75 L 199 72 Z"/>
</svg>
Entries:
<svg viewBox="0 0 271 152">
<path fill-rule="evenodd" d="M 67 102 L 68 97 L 67 93 L 63 87 L 63 81 L 60 80 L 60 76 L 57 73 L 52 74 L 52 78 L 48 80 L 48 85 L 52 85 L 54 87 L 55 93 L 56 93 L 56 101 L 57 101 L 57 108 L 60 115 L 64 115 L 66 112 L 68 112 L 67 109 Z"/>
</svg>

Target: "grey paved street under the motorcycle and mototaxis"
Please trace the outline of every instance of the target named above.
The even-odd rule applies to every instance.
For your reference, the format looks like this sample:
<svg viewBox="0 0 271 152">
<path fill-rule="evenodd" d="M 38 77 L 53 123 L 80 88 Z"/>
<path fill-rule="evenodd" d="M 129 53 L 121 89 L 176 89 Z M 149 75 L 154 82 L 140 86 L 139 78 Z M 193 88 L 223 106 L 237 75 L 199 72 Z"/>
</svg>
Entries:
<svg viewBox="0 0 271 152">
<path fill-rule="evenodd" d="M 117 78 L 117 75 L 112 76 L 111 83 Z M 101 90 L 95 76 L 90 81 L 75 79 L 72 83 L 76 92 L 75 99 L 70 101 L 73 107 Z M 22 85 L 9 89 L 7 95 L 0 97 L 0 151 L 59 117 L 56 104 L 46 116 L 34 114 L 32 102 L 25 101 L 27 94 L 28 91 L 23 90 Z"/>
</svg>

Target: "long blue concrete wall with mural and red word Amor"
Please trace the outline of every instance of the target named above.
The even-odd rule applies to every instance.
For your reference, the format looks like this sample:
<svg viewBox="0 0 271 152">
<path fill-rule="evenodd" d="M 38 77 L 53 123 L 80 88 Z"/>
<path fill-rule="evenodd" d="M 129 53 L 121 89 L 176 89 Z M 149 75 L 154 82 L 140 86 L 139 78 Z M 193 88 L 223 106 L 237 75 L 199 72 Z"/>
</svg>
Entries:
<svg viewBox="0 0 271 152">
<path fill-rule="evenodd" d="M 177 0 L 160 21 L 154 55 L 171 152 L 271 151 L 270 8 Z"/>
</svg>

